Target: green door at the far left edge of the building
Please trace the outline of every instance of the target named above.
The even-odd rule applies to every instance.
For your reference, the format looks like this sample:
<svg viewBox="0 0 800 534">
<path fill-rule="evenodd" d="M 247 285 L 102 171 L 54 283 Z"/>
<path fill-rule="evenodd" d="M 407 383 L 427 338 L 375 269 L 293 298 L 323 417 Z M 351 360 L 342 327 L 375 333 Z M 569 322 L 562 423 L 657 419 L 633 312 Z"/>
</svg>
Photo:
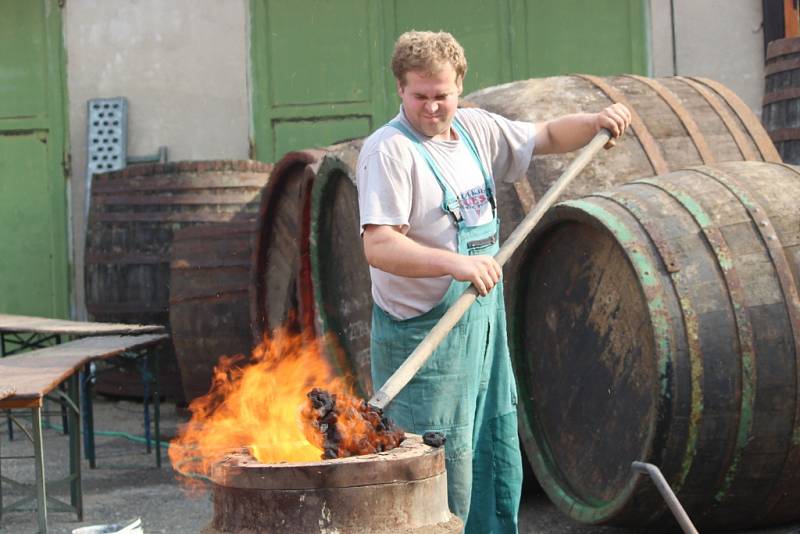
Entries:
<svg viewBox="0 0 800 534">
<path fill-rule="evenodd" d="M 0 2 L 0 312 L 69 310 L 61 36 L 56 0 Z"/>
</svg>

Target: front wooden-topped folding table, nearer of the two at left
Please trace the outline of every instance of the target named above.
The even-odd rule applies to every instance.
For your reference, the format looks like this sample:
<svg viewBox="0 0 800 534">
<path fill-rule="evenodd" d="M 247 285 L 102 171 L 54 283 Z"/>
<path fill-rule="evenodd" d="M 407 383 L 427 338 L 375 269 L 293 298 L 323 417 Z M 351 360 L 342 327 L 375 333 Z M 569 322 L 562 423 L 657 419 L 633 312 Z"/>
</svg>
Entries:
<svg viewBox="0 0 800 534">
<path fill-rule="evenodd" d="M 81 388 L 78 375 L 83 367 L 95 360 L 103 360 L 118 356 L 126 351 L 152 348 L 164 341 L 166 334 L 140 334 L 135 336 L 98 336 L 69 341 L 60 345 L 32 350 L 29 352 L 0 358 L 0 377 L 2 388 L 7 396 L 0 398 L 0 410 L 25 408 L 31 411 L 33 432 L 31 441 L 34 449 L 36 482 L 34 484 L 38 523 L 40 532 L 47 532 L 47 504 L 51 502 L 59 508 L 74 511 L 78 521 L 83 520 L 83 496 L 81 491 L 81 453 L 80 453 L 80 397 Z M 155 366 L 155 358 L 153 360 Z M 68 382 L 66 394 L 58 390 L 59 384 Z M 160 428 L 158 415 L 158 382 L 154 388 L 155 407 L 155 444 L 157 463 L 160 465 Z M 62 396 L 69 406 L 69 450 L 70 474 L 67 477 L 70 486 L 70 504 L 47 496 L 44 473 L 44 445 L 42 441 L 42 406 L 46 395 L 56 393 Z M 27 487 L 18 481 L 3 477 L 0 472 L 0 483 L 5 482 L 17 487 Z M 20 508 L 31 502 L 33 497 L 22 498 L 15 503 L 3 507 L 2 491 L 0 491 L 0 518 L 5 511 Z"/>
</svg>

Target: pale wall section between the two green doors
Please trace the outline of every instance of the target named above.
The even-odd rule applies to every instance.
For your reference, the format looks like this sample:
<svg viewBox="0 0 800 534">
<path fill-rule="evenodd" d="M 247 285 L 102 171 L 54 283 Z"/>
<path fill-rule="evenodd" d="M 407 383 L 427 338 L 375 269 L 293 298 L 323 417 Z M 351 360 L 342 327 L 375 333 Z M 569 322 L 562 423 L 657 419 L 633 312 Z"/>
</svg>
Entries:
<svg viewBox="0 0 800 534">
<path fill-rule="evenodd" d="M 247 0 L 69 0 L 67 49 L 74 314 L 83 306 L 86 101 L 128 99 L 128 154 L 245 159 Z"/>
</svg>

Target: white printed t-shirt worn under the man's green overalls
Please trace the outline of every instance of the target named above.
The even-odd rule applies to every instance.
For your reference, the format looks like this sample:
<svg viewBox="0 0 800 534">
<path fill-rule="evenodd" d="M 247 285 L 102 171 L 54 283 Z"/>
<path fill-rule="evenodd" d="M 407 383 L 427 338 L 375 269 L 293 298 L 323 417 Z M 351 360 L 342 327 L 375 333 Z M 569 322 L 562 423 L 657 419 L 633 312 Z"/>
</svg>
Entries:
<svg viewBox="0 0 800 534">
<path fill-rule="evenodd" d="M 481 109 L 459 109 L 461 125 L 469 133 L 484 168 L 492 179 L 521 176 L 528 169 L 535 126 L 510 121 Z M 492 220 L 492 208 L 483 174 L 466 143 L 426 137 L 406 120 L 402 107 L 396 119 L 422 142 L 458 199 L 461 215 L 470 225 Z M 456 225 L 442 210 L 443 194 L 428 163 L 402 132 L 385 125 L 364 142 L 356 168 L 361 229 L 367 224 L 403 225 L 417 243 L 457 250 Z M 435 306 L 452 281 L 451 276 L 407 278 L 370 267 L 372 298 L 399 319 L 415 317 Z"/>
</svg>

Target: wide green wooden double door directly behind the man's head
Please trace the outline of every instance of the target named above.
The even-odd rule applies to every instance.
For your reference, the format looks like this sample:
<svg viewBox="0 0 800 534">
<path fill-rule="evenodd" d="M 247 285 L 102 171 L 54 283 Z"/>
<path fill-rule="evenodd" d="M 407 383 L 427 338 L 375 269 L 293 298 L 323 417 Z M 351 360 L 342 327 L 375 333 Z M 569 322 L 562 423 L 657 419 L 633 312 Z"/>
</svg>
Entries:
<svg viewBox="0 0 800 534">
<path fill-rule="evenodd" d="M 645 0 L 251 0 L 255 155 L 369 134 L 397 113 L 410 29 L 464 46 L 464 92 L 566 73 L 647 73 Z"/>
</svg>

